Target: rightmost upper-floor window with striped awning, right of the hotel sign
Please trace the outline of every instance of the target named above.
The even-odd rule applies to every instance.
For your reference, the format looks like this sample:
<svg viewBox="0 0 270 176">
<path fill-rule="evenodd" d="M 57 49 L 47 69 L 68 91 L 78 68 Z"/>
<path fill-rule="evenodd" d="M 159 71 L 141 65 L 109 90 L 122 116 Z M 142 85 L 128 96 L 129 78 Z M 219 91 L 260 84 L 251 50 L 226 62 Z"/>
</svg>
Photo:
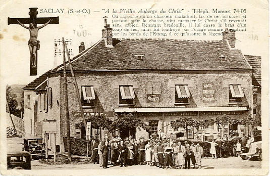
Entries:
<svg viewBox="0 0 270 176">
<path fill-rule="evenodd" d="M 241 103 L 243 97 L 241 85 L 229 85 L 229 103 Z"/>
</svg>

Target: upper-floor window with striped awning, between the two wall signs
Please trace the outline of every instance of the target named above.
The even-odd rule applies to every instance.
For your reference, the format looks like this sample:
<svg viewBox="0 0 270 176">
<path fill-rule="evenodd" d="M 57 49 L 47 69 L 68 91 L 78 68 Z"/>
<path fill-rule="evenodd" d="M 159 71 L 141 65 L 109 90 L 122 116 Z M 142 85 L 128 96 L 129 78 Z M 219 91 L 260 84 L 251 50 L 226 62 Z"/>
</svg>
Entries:
<svg viewBox="0 0 270 176">
<path fill-rule="evenodd" d="M 187 85 L 175 85 L 175 103 L 188 103 L 190 93 Z"/>
</svg>

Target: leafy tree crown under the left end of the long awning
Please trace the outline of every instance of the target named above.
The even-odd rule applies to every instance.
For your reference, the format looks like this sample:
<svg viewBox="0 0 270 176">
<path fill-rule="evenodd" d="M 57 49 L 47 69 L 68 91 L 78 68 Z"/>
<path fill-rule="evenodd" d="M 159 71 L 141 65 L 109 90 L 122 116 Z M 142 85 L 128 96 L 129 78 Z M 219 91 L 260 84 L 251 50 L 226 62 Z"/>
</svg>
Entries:
<svg viewBox="0 0 270 176">
<path fill-rule="evenodd" d="M 128 129 L 129 135 L 131 133 L 132 128 L 143 128 L 147 132 L 151 131 L 151 126 L 145 124 L 142 120 L 140 120 L 136 113 L 122 113 L 120 114 L 117 119 L 112 124 L 113 128 L 119 129 L 120 131 L 123 131 L 124 129 Z"/>
</svg>

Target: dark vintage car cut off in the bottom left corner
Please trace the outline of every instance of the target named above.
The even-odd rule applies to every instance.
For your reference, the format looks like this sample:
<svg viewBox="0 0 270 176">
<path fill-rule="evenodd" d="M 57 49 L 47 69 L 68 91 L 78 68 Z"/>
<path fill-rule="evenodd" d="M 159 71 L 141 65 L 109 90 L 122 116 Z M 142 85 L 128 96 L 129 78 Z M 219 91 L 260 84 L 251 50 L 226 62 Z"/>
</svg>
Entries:
<svg viewBox="0 0 270 176">
<path fill-rule="evenodd" d="M 31 169 L 30 152 L 10 152 L 7 154 L 7 169 Z"/>
</svg>

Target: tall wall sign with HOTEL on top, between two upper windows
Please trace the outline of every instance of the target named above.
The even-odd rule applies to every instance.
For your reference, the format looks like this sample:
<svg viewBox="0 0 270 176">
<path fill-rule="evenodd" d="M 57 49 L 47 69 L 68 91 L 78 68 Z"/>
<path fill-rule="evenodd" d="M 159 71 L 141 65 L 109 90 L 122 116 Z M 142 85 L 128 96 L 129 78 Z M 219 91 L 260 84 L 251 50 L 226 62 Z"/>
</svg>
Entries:
<svg viewBox="0 0 270 176">
<path fill-rule="evenodd" d="M 214 84 L 212 82 L 202 84 L 203 103 L 214 103 Z"/>
</svg>

